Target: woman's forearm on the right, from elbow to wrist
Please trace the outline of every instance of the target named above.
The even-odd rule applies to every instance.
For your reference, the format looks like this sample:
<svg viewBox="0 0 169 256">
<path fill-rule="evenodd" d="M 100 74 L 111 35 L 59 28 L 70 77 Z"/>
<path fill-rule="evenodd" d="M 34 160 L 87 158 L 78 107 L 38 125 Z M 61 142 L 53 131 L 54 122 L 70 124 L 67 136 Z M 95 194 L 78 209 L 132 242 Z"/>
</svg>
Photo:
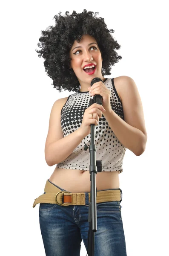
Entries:
<svg viewBox="0 0 169 256">
<path fill-rule="evenodd" d="M 146 136 L 139 129 L 129 125 L 113 110 L 106 111 L 104 116 L 120 143 L 139 156 L 146 146 Z"/>
</svg>

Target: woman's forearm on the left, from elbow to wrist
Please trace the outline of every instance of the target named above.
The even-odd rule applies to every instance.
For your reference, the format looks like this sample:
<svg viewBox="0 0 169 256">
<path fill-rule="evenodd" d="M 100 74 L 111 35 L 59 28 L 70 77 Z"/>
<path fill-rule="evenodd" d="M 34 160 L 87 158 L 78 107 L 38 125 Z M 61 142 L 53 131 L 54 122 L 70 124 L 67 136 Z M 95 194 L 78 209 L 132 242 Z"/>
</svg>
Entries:
<svg viewBox="0 0 169 256">
<path fill-rule="evenodd" d="M 84 136 L 79 129 L 68 136 L 51 143 L 45 151 L 46 163 L 49 166 L 60 163 L 65 160 L 80 144 Z"/>
</svg>

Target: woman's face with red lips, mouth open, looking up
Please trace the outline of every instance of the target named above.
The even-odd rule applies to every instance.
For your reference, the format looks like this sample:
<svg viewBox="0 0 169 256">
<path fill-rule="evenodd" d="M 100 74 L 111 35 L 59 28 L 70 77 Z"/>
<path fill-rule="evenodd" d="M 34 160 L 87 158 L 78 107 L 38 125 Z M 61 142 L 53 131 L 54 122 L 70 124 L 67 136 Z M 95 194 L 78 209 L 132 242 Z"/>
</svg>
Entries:
<svg viewBox="0 0 169 256">
<path fill-rule="evenodd" d="M 95 77 L 100 77 L 103 80 L 102 57 L 95 38 L 83 35 L 80 43 L 74 41 L 70 50 L 70 58 L 71 68 L 80 83 L 90 83 Z M 84 69 L 86 65 L 94 67 Z"/>
</svg>

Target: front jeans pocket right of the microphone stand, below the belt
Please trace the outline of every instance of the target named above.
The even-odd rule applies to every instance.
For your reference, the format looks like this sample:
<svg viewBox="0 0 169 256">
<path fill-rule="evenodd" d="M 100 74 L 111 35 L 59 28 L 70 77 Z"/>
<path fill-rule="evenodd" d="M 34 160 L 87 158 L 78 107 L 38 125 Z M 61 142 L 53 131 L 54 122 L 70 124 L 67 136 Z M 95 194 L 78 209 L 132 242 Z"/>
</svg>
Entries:
<svg viewBox="0 0 169 256">
<path fill-rule="evenodd" d="M 97 212 L 119 212 L 121 214 L 121 205 L 119 201 L 97 203 Z"/>
</svg>

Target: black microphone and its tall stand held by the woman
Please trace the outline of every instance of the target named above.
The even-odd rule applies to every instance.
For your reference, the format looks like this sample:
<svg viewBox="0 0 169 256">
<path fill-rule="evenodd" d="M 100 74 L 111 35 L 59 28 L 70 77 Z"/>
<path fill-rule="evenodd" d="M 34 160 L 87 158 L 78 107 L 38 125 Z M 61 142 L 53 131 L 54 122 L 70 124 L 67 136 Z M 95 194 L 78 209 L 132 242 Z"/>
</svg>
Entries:
<svg viewBox="0 0 169 256">
<path fill-rule="evenodd" d="M 91 86 L 97 81 L 102 81 L 100 78 L 94 78 L 91 81 Z M 103 82 L 103 81 L 102 81 Z M 90 99 L 89 106 L 94 103 L 103 105 L 102 96 L 95 95 L 93 99 Z M 84 150 L 86 151 L 89 148 L 90 153 L 90 202 L 89 202 L 89 231 L 88 231 L 88 248 L 87 254 L 89 251 L 89 256 L 94 256 L 95 253 L 95 232 L 97 232 L 97 207 L 96 207 L 96 196 L 97 196 L 97 187 L 96 187 L 96 174 L 97 172 L 102 172 L 102 162 L 101 160 L 96 160 L 96 145 L 95 145 L 95 125 L 91 124 L 91 140 L 90 146 L 84 145 Z M 92 227 L 92 232 L 91 232 Z"/>
</svg>

